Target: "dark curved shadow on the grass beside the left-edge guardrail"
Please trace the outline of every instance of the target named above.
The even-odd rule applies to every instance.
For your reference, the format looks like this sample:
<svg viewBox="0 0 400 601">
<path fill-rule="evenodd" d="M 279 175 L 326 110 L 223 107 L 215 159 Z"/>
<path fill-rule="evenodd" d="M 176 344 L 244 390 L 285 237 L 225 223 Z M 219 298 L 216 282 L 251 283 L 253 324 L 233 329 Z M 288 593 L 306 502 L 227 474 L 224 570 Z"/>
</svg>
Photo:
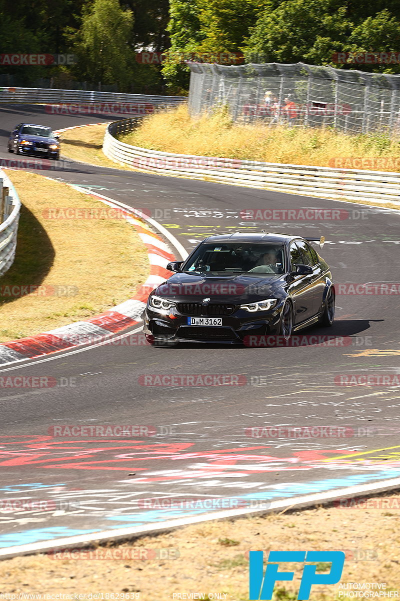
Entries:
<svg viewBox="0 0 400 601">
<path fill-rule="evenodd" d="M 46 230 L 25 206 L 19 218 L 16 258 L 10 269 L 0 278 L 0 306 L 16 301 L 27 292 L 23 286 L 37 286 L 49 273 L 55 250 Z M 8 288 L 10 287 L 10 288 Z M 17 288 L 11 288 L 17 287 Z M 11 296 L 13 294 L 13 296 Z"/>
</svg>

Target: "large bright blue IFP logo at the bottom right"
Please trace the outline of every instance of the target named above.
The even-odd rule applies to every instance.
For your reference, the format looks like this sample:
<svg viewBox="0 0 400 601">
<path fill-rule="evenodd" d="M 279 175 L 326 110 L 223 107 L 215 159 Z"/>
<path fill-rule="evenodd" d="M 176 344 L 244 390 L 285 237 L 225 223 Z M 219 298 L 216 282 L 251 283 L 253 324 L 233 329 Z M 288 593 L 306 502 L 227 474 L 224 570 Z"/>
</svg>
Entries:
<svg viewBox="0 0 400 601">
<path fill-rule="evenodd" d="M 336 584 L 344 566 L 344 551 L 270 551 L 268 564 L 263 570 L 263 551 L 249 552 L 249 600 L 272 599 L 275 582 L 293 580 L 294 572 L 278 572 L 278 563 L 297 561 L 300 563 L 322 561 L 331 563 L 329 574 L 317 574 L 317 566 L 305 565 L 297 599 L 309 599 L 313 584 Z"/>
</svg>

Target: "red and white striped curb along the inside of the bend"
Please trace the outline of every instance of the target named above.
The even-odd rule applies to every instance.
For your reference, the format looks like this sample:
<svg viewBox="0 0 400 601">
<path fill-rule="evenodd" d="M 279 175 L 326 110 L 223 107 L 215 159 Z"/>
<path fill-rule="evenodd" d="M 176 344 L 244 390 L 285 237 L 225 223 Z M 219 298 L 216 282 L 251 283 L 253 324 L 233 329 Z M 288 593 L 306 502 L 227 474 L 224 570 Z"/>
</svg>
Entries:
<svg viewBox="0 0 400 601">
<path fill-rule="evenodd" d="M 47 177 L 47 179 L 51 180 L 49 177 Z M 172 245 L 175 246 L 182 258 L 187 257 L 187 252 L 181 243 L 179 243 L 178 240 L 176 240 L 162 225 L 158 224 L 154 219 L 143 215 L 142 212 L 133 209 L 126 204 L 119 203 L 119 201 L 112 200 L 112 198 L 107 198 L 101 194 L 95 194 L 94 192 L 88 192 L 79 186 L 68 184 L 66 182 L 60 183 L 71 186 L 71 188 L 76 189 L 78 192 L 90 195 L 110 207 L 119 210 L 121 210 L 121 208 L 123 209 L 123 215 L 126 213 L 124 215 L 125 219 L 129 224 L 136 228 L 140 239 L 142 239 L 142 242 L 148 250 L 150 275 L 142 285 L 142 291 L 137 293 L 136 296 L 104 311 L 104 313 L 29 338 L 19 338 L 19 340 L 0 344 L 0 365 L 7 365 L 17 361 L 23 361 L 24 359 L 49 355 L 50 353 L 71 349 L 72 347 L 82 346 L 83 344 L 97 343 L 101 340 L 105 340 L 116 332 L 121 332 L 122 330 L 131 328 L 131 326 L 139 323 L 140 316 L 146 307 L 146 300 L 149 292 L 172 275 L 172 273 L 166 269 L 166 266 L 167 263 L 175 260 L 175 255 L 173 255 L 169 246 L 160 236 L 151 230 L 148 223 L 172 242 Z"/>
</svg>

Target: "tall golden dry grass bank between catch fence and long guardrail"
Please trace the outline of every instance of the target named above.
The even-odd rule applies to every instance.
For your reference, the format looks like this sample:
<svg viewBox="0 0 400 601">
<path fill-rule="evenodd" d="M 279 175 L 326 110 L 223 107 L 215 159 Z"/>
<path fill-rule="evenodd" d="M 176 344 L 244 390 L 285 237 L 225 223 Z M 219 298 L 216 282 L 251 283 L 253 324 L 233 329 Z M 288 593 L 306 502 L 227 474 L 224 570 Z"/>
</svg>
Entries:
<svg viewBox="0 0 400 601">
<path fill-rule="evenodd" d="M 178 154 L 295 165 L 329 166 L 330 159 L 342 157 L 400 157 L 399 142 L 389 141 L 384 135 L 345 135 L 336 130 L 283 126 L 272 129 L 267 124 L 233 125 L 224 111 L 191 119 L 186 106 L 145 118 L 138 129 L 122 136 L 121 140 Z M 331 163 L 330 166 L 345 165 Z M 371 166 L 365 168 L 371 169 Z M 376 169 L 382 170 L 382 167 Z M 399 167 L 394 163 L 384 166 L 383 170 L 398 171 Z"/>
</svg>

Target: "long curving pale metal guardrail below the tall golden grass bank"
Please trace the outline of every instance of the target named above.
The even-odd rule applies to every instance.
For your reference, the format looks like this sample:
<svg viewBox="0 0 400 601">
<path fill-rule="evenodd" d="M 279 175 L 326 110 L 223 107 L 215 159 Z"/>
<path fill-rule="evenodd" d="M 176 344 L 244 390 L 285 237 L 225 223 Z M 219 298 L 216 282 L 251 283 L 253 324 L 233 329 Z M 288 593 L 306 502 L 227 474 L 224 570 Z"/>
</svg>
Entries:
<svg viewBox="0 0 400 601">
<path fill-rule="evenodd" d="M 103 152 L 109 159 L 149 172 L 305 196 L 400 202 L 400 173 L 396 172 L 173 154 L 131 146 L 116 139 L 120 133 L 134 129 L 141 119 L 110 123 L 103 141 Z"/>
</svg>

